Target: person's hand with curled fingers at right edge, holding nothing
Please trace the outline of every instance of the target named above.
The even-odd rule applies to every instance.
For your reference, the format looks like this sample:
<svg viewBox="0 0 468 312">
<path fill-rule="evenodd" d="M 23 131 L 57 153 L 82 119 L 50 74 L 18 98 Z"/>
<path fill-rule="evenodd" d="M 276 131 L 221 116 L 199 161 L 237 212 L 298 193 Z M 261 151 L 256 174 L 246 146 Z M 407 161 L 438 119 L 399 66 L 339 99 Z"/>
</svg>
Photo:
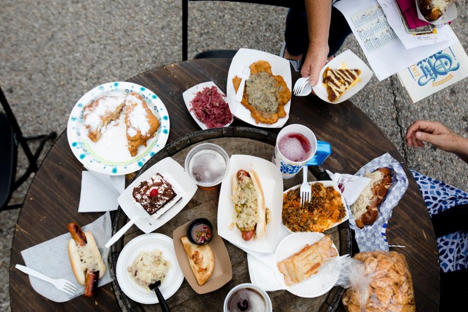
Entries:
<svg viewBox="0 0 468 312">
<path fill-rule="evenodd" d="M 416 120 L 406 132 L 408 146 L 424 147 L 428 142 L 446 152 L 457 152 L 461 137 L 438 121 Z"/>
</svg>

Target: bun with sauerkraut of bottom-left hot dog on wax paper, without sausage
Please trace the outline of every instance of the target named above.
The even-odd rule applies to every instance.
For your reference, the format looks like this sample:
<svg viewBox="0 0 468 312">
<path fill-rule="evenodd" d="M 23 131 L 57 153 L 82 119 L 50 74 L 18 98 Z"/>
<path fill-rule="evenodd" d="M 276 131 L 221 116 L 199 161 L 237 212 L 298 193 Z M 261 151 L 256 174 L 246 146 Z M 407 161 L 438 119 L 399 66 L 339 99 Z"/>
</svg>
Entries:
<svg viewBox="0 0 468 312">
<path fill-rule="evenodd" d="M 85 232 L 87 243 L 83 247 L 79 247 L 82 250 L 83 261 L 81 261 L 80 253 L 78 252 L 78 245 L 73 238 L 68 241 L 68 257 L 70 258 L 70 264 L 72 266 L 73 274 L 78 283 L 81 285 L 86 284 L 86 269 L 93 269 L 93 271 L 99 271 L 99 278 L 104 276 L 106 273 L 106 265 L 102 261 L 101 254 L 99 253 L 98 245 L 94 240 L 91 232 Z"/>
</svg>

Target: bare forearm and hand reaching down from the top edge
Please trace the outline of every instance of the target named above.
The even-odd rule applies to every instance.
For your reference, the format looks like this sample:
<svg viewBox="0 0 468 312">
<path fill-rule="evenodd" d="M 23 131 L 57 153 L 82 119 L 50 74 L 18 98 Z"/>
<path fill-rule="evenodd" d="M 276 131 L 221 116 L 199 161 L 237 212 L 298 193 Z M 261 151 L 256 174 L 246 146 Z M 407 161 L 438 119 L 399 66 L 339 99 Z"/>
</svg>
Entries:
<svg viewBox="0 0 468 312">
<path fill-rule="evenodd" d="M 302 65 L 301 76 L 310 76 L 314 86 L 319 81 L 320 70 L 327 63 L 328 36 L 330 32 L 331 0 L 305 0 L 307 26 L 309 28 L 309 49 Z"/>
</svg>

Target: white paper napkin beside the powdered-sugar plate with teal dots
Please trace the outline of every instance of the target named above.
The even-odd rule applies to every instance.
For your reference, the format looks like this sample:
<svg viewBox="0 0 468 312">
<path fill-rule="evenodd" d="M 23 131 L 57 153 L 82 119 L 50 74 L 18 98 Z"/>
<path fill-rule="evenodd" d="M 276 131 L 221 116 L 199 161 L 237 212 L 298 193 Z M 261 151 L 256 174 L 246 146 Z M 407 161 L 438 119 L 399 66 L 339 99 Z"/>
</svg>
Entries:
<svg viewBox="0 0 468 312">
<path fill-rule="evenodd" d="M 124 189 L 125 176 L 109 176 L 95 171 L 83 171 L 78 212 L 116 210 L 118 207 L 117 198 Z"/>
</svg>

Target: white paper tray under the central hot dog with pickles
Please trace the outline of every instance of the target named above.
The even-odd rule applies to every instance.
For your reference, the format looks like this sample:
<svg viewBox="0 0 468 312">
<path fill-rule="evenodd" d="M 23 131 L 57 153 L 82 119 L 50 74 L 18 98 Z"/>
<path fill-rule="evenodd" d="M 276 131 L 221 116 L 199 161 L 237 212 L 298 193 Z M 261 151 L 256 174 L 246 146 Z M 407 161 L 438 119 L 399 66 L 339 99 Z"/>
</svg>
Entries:
<svg viewBox="0 0 468 312">
<path fill-rule="evenodd" d="M 248 155 L 231 156 L 229 173 L 221 183 L 218 201 L 218 234 L 242 249 L 252 250 L 258 253 L 273 253 L 278 243 L 277 237 L 281 227 L 281 210 L 283 204 L 283 178 L 281 172 L 271 161 Z M 262 185 L 265 205 L 272 212 L 271 220 L 267 224 L 265 235 L 258 240 L 245 241 L 240 231 L 233 223 L 234 202 L 232 195 L 232 177 L 238 170 L 254 170 Z"/>
</svg>

